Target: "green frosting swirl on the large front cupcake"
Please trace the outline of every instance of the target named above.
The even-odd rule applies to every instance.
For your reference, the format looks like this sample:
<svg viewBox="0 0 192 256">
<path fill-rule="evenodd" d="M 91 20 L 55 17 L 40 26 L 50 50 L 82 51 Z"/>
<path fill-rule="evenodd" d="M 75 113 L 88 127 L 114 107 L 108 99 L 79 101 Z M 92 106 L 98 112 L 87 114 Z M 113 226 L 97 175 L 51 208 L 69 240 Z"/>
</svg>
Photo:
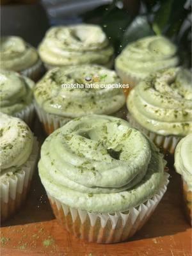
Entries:
<svg viewBox="0 0 192 256">
<path fill-rule="evenodd" d="M 164 161 L 128 122 L 90 115 L 68 122 L 45 140 L 38 168 L 47 192 L 63 204 L 112 213 L 154 196 Z"/>
</svg>

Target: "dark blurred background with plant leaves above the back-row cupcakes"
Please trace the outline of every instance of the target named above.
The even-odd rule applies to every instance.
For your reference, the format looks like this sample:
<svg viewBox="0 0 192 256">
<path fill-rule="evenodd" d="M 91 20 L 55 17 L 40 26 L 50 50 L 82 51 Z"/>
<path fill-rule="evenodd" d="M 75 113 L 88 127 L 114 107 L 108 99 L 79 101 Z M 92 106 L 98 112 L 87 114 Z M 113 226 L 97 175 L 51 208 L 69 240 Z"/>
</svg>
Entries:
<svg viewBox="0 0 192 256">
<path fill-rule="evenodd" d="M 50 26 L 100 24 L 119 54 L 148 35 L 165 35 L 191 67 L 191 0 L 1 0 L 1 35 L 37 46 Z"/>
</svg>

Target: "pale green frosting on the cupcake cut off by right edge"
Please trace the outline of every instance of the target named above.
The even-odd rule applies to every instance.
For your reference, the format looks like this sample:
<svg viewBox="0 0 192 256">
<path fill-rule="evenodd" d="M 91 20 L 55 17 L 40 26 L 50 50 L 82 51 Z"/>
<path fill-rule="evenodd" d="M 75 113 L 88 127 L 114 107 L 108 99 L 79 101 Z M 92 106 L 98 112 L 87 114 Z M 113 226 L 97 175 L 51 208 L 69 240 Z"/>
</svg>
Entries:
<svg viewBox="0 0 192 256">
<path fill-rule="evenodd" d="M 175 149 L 175 170 L 182 175 L 192 191 L 192 134 L 179 141 Z"/>
</svg>

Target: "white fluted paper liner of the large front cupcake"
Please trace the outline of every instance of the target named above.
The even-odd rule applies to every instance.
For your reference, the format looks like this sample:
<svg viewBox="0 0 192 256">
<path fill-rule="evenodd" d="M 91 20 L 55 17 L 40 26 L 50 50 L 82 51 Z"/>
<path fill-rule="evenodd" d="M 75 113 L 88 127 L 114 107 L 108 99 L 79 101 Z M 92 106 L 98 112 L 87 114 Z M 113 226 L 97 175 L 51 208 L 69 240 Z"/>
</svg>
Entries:
<svg viewBox="0 0 192 256">
<path fill-rule="evenodd" d="M 51 193 L 47 195 L 56 218 L 74 236 L 96 243 L 118 243 L 133 236 L 145 224 L 166 191 L 168 177 L 168 173 L 164 173 L 159 191 L 147 202 L 115 214 L 74 209 L 62 204 Z"/>
</svg>

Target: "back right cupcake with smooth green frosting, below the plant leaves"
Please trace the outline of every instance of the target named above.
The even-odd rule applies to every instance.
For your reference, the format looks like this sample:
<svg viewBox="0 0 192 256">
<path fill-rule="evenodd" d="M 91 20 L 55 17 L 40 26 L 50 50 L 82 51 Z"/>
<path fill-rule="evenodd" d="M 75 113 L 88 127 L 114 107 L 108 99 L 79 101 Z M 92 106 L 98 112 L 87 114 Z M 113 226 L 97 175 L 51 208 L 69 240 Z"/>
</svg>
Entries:
<svg viewBox="0 0 192 256">
<path fill-rule="evenodd" d="M 115 69 L 129 89 L 143 81 L 148 74 L 179 63 L 177 47 L 164 36 L 147 36 L 133 42 L 116 58 Z"/>
</svg>

